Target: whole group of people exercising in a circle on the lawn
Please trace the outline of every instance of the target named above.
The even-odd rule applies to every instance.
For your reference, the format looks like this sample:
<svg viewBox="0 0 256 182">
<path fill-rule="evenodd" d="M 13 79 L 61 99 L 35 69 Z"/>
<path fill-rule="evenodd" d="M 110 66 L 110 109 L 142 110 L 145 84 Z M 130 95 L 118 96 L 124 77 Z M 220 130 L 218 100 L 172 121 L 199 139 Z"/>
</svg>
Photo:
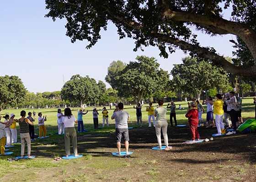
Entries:
<svg viewBox="0 0 256 182">
<path fill-rule="evenodd" d="M 212 97 L 208 97 L 206 101 L 203 101 L 201 104 L 199 100 L 195 98 L 192 99 L 192 102 L 188 102 L 188 110 L 186 113 L 186 117 L 188 118 L 189 128 L 191 132 L 191 140 L 187 143 L 195 143 L 196 140 L 200 140 L 200 135 L 198 132 L 198 126 L 203 126 L 203 124 L 208 125 L 208 127 L 216 125 L 217 134 L 216 136 L 223 134 L 236 134 L 237 126 L 242 123 L 241 118 L 241 98 L 239 96 L 235 96 L 234 91 L 230 91 L 229 93 L 217 94 L 215 100 Z M 256 99 L 254 98 L 254 103 L 256 104 Z M 161 144 L 161 131 L 163 133 L 164 142 L 165 142 L 165 150 L 171 150 L 171 146 L 168 143 L 168 134 L 167 127 L 168 122 L 166 120 L 167 109 L 170 109 L 170 122 L 171 126 L 173 126 L 173 119 L 175 121 L 175 126 L 177 126 L 176 120 L 176 105 L 173 101 L 171 104 L 167 105 L 167 109 L 163 107 L 164 101 L 158 101 L 158 106 L 155 109 L 153 104 L 150 102 L 149 106 L 146 107 L 146 111 L 148 111 L 148 123 L 149 127 L 151 127 L 151 119 L 153 120 L 153 125 L 155 127 L 156 138 L 158 142 L 159 149 L 162 149 Z M 203 105 L 207 106 L 207 117 L 206 122 L 203 123 L 202 114 L 204 112 Z M 142 104 L 138 103 L 137 106 L 133 106 L 136 109 L 137 116 L 137 124 L 142 124 Z M 117 142 L 117 153 L 121 153 L 121 140 L 124 140 L 126 154 L 128 155 L 129 148 L 129 131 L 128 131 L 128 120 L 129 114 L 127 111 L 124 111 L 123 103 L 120 102 L 116 105 L 116 109 L 114 110 L 111 119 L 115 120 L 116 127 L 116 142 Z M 179 106 L 179 109 L 182 109 Z M 58 134 L 64 134 L 64 143 L 65 143 L 65 153 L 66 157 L 70 156 L 70 142 L 73 146 L 74 156 L 78 156 L 77 151 L 77 136 L 75 130 L 75 123 L 78 124 L 78 132 L 85 132 L 84 124 L 83 124 L 83 115 L 86 115 L 88 111 L 85 112 L 84 109 L 80 109 L 78 111 L 77 120 L 75 116 L 72 114 L 70 108 L 64 109 L 64 114 L 61 109 L 57 111 L 57 124 L 58 124 Z M 98 115 L 99 112 L 96 108 L 93 109 L 93 123 L 94 128 L 98 129 Z M 102 109 L 102 127 L 105 126 L 105 121 L 107 126 L 108 123 L 108 114 L 106 107 Z M 17 130 L 16 123 L 19 123 L 20 126 L 20 138 L 21 138 L 21 158 L 24 157 L 25 153 L 25 145 L 27 144 L 27 157 L 31 157 L 31 141 L 35 139 L 34 132 L 34 121 L 35 121 L 35 111 L 32 113 L 28 112 L 28 116 L 26 117 L 26 111 L 21 111 L 20 119 L 15 119 L 15 115 L 11 114 L 5 115 L 4 122 L 0 122 L 0 147 L 1 147 L 1 155 L 5 155 L 5 147 L 10 147 L 11 143 L 17 142 Z M 215 122 L 213 115 L 215 115 Z M 230 119 L 229 119 L 230 118 Z M 231 121 L 230 121 L 231 120 Z M 44 125 L 44 122 L 47 121 L 47 116 L 43 116 L 42 112 L 38 113 L 38 127 L 39 127 L 39 136 L 38 138 L 45 138 L 47 130 Z M 226 129 L 233 128 L 232 131 L 226 131 Z"/>
</svg>

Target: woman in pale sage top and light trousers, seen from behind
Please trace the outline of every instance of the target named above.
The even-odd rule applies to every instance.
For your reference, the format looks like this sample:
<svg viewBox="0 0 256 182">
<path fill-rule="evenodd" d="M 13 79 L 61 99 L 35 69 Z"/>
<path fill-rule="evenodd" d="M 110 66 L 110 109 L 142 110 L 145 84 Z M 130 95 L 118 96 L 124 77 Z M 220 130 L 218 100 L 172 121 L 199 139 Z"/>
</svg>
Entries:
<svg viewBox="0 0 256 182">
<path fill-rule="evenodd" d="M 165 150 L 170 150 L 171 147 L 168 146 L 168 135 L 167 135 L 167 127 L 168 122 L 166 120 L 166 112 L 167 110 L 163 107 L 164 101 L 158 101 L 159 107 L 155 110 L 156 124 L 155 124 L 155 132 L 158 142 L 158 147 L 162 148 L 161 142 L 161 129 L 163 131 L 163 136 L 165 140 Z"/>
</svg>

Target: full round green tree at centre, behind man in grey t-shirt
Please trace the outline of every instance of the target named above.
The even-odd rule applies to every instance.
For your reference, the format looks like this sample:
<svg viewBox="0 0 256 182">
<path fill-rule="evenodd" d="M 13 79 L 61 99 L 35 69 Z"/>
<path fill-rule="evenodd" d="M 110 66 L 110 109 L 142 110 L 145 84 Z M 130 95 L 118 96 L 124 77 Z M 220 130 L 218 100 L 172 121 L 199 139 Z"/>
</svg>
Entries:
<svg viewBox="0 0 256 182">
<path fill-rule="evenodd" d="M 117 91 L 119 96 L 136 97 L 137 101 L 141 101 L 165 88 L 169 74 L 160 69 L 154 57 L 137 56 L 136 60 L 130 61 L 123 71 L 118 72 Z"/>
</svg>

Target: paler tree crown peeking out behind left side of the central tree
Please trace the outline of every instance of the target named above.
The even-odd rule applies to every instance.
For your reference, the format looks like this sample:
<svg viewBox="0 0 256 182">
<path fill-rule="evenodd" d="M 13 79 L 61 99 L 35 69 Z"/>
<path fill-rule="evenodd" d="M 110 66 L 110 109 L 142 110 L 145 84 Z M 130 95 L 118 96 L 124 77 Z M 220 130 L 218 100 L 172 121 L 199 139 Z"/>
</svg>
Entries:
<svg viewBox="0 0 256 182">
<path fill-rule="evenodd" d="M 107 68 L 107 76 L 105 80 L 112 86 L 112 88 L 117 88 L 116 77 L 119 71 L 122 71 L 125 68 L 125 64 L 122 61 L 112 61 L 110 66 Z"/>
</svg>

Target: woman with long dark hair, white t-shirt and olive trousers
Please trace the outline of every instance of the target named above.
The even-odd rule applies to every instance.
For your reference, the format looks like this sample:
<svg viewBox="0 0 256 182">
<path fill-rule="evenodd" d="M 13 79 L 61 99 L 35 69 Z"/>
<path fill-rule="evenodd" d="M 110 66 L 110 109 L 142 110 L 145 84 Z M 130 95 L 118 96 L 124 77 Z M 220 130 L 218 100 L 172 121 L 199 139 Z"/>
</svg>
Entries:
<svg viewBox="0 0 256 182">
<path fill-rule="evenodd" d="M 63 116 L 62 122 L 65 128 L 64 140 L 65 140 L 66 157 L 69 157 L 70 155 L 70 140 L 72 142 L 74 155 L 75 157 L 77 157 L 78 152 L 77 152 L 75 123 L 78 123 L 78 121 L 75 120 L 75 116 L 72 115 L 70 108 L 66 108 L 64 110 L 64 116 Z"/>
</svg>

